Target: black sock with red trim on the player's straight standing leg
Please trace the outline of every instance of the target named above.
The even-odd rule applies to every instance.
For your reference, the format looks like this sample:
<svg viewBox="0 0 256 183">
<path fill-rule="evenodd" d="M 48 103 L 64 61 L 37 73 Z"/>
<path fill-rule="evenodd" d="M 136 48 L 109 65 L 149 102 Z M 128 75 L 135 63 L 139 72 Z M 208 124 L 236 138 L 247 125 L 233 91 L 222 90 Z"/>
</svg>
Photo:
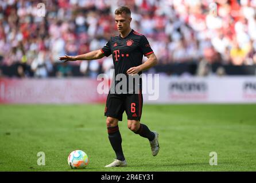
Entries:
<svg viewBox="0 0 256 183">
<path fill-rule="evenodd" d="M 117 155 L 117 160 L 121 160 L 121 161 L 125 160 L 125 156 L 123 156 L 123 150 L 122 150 L 122 137 L 119 132 L 118 126 L 108 127 L 107 133 L 108 133 L 108 139 L 110 141 L 110 144 L 114 149 L 115 154 Z"/>
</svg>

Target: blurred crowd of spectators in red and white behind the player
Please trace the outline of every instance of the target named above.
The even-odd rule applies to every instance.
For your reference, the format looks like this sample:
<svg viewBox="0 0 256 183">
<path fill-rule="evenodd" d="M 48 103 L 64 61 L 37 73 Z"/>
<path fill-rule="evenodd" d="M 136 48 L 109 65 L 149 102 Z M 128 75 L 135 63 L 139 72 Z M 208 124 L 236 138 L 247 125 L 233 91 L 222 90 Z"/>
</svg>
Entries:
<svg viewBox="0 0 256 183">
<path fill-rule="evenodd" d="M 197 74 L 213 63 L 256 64 L 256 0 L 3 0 L 0 1 L 0 76 L 95 78 L 113 68 L 111 56 L 59 63 L 61 55 L 102 48 L 117 34 L 114 11 L 131 9 L 131 27 L 146 35 L 160 65 L 194 62 Z M 222 71 L 223 73 L 223 71 Z"/>
</svg>

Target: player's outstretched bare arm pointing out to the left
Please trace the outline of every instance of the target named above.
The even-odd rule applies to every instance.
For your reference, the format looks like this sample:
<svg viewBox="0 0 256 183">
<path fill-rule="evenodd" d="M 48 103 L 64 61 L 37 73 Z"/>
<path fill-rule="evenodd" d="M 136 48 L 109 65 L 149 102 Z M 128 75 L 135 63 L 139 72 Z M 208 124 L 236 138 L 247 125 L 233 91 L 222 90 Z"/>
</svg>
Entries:
<svg viewBox="0 0 256 183">
<path fill-rule="evenodd" d="M 92 59 L 100 59 L 104 56 L 105 55 L 101 50 L 95 50 L 82 55 L 76 55 L 76 56 L 65 55 L 63 57 L 59 57 L 59 60 L 60 61 L 63 61 L 63 60 L 64 61 L 82 61 L 82 60 L 90 61 Z"/>
</svg>

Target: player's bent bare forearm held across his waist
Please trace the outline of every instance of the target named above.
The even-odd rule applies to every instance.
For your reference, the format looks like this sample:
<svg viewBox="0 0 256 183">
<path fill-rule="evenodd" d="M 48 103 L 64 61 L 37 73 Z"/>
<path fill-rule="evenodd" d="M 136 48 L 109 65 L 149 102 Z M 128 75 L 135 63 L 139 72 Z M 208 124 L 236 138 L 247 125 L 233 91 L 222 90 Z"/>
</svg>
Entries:
<svg viewBox="0 0 256 183">
<path fill-rule="evenodd" d="M 157 57 L 154 53 L 146 55 L 146 57 L 148 57 L 146 62 L 142 63 L 137 67 L 131 67 L 127 70 L 127 74 L 138 74 L 140 71 L 147 70 L 157 64 Z"/>
</svg>

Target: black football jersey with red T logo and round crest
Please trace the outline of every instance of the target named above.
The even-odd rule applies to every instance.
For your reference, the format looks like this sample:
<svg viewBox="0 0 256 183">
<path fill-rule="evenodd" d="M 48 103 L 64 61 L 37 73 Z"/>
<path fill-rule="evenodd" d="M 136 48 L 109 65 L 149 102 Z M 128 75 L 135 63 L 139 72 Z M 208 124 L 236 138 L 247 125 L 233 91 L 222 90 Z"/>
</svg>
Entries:
<svg viewBox="0 0 256 183">
<path fill-rule="evenodd" d="M 106 43 L 101 51 L 106 57 L 112 54 L 115 69 L 114 77 L 118 74 L 125 74 L 127 77 L 127 86 L 129 83 L 126 71 L 131 67 L 141 65 L 143 55 L 146 56 L 153 53 L 145 35 L 139 34 L 133 29 L 125 38 L 122 38 L 121 35 L 111 37 L 110 41 Z M 138 74 L 141 75 L 142 72 Z M 118 82 L 119 81 L 115 79 L 115 85 L 117 85 Z M 141 79 L 139 79 L 138 85 L 139 89 L 141 89 Z M 135 92 L 135 87 L 132 90 Z M 130 91 L 131 89 L 127 90 L 129 93 Z"/>
</svg>

